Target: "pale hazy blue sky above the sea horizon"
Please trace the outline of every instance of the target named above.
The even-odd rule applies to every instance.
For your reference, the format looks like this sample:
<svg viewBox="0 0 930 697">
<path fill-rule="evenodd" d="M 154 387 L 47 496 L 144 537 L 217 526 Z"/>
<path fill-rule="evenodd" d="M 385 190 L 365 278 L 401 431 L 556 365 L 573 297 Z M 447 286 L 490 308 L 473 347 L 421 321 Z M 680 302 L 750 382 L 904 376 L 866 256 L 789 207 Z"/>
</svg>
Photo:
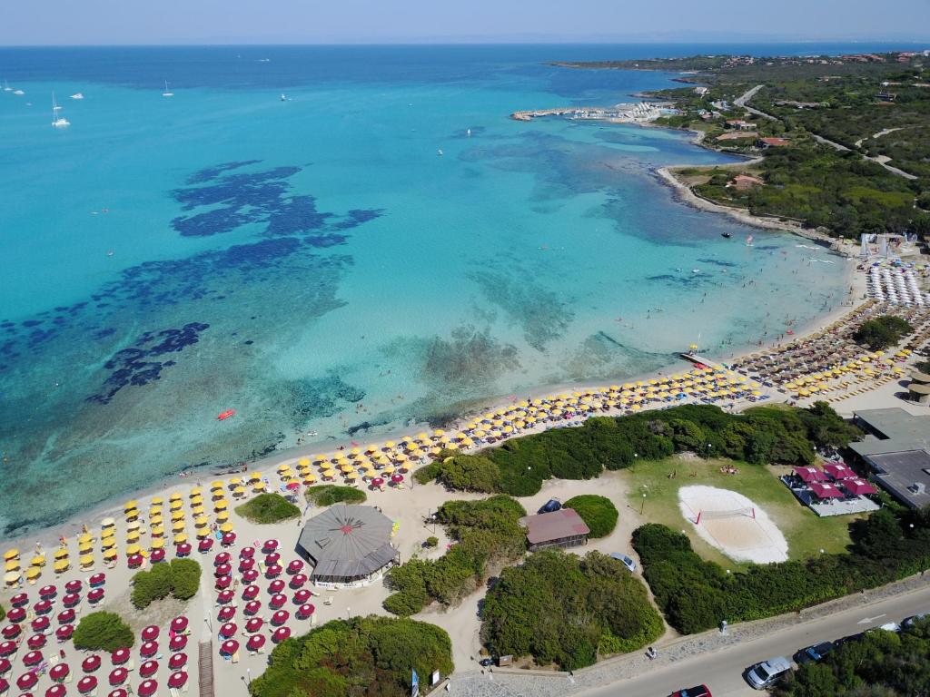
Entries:
<svg viewBox="0 0 930 697">
<path fill-rule="evenodd" d="M 930 0 L 8 0 L 0 45 L 927 40 Z"/>
</svg>

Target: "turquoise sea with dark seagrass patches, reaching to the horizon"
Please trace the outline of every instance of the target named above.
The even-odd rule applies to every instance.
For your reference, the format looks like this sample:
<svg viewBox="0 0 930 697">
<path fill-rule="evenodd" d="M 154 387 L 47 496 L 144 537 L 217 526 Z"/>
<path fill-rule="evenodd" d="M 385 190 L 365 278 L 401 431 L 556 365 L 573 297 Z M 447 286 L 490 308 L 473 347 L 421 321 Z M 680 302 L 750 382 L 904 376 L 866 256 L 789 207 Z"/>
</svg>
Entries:
<svg viewBox="0 0 930 697">
<path fill-rule="evenodd" d="M 369 441 L 835 305 L 841 260 L 777 233 L 747 248 L 652 174 L 723 157 L 507 117 L 669 84 L 541 64 L 622 55 L 642 54 L 0 50 L 26 93 L 0 92 L 0 534 L 308 429 Z"/>
</svg>

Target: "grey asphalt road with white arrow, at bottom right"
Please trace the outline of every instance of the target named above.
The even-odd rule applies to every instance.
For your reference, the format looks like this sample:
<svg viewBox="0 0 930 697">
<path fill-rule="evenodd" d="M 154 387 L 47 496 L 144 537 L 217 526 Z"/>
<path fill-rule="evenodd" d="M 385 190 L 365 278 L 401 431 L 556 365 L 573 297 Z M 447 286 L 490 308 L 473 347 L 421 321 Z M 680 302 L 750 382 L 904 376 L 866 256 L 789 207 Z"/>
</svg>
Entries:
<svg viewBox="0 0 930 697">
<path fill-rule="evenodd" d="M 648 673 L 581 694 L 585 697 L 665 697 L 675 690 L 704 684 L 711 689 L 713 697 L 758 696 L 764 692 L 752 690 L 743 678 L 743 672 L 751 664 L 773 656 L 790 659 L 795 651 L 820 641 L 857 634 L 886 622 L 900 623 L 909 615 L 927 611 L 930 611 L 930 585 L 673 664 L 663 663 L 659 655 L 655 667 Z"/>
</svg>

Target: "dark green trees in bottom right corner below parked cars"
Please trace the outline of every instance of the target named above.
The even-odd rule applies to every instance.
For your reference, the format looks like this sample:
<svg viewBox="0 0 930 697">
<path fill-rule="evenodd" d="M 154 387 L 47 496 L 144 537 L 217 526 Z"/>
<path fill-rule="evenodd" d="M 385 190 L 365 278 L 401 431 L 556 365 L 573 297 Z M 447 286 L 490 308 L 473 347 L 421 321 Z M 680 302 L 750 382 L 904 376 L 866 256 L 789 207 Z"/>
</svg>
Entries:
<svg viewBox="0 0 930 697">
<path fill-rule="evenodd" d="M 799 666 L 776 687 L 778 697 L 834 694 L 930 694 L 930 619 L 900 634 L 875 630 Z"/>
</svg>

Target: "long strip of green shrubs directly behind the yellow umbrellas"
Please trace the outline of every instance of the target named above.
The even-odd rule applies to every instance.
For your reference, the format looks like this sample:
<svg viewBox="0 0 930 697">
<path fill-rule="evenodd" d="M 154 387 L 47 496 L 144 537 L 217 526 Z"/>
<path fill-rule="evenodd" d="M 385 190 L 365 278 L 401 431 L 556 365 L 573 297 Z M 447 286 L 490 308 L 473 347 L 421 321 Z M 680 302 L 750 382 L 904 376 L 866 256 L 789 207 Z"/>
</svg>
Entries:
<svg viewBox="0 0 930 697">
<path fill-rule="evenodd" d="M 548 479 L 588 480 L 605 468 L 684 451 L 752 464 L 811 464 L 817 445 L 843 446 L 858 434 L 826 402 L 809 409 L 753 407 L 742 414 L 688 404 L 590 418 L 577 428 L 554 428 L 477 454 L 444 452 L 415 476 L 449 489 L 529 496 Z"/>
</svg>

